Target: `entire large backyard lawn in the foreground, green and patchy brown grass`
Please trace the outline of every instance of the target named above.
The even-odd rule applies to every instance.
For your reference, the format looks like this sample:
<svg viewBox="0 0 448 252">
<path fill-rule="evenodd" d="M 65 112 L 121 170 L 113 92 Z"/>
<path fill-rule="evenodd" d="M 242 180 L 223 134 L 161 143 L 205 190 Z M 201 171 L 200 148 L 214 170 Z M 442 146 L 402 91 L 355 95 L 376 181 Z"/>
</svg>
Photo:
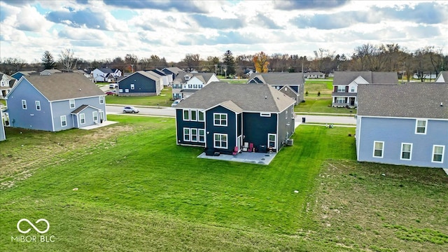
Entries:
<svg viewBox="0 0 448 252">
<path fill-rule="evenodd" d="M 196 158 L 200 148 L 176 146 L 171 118 L 108 118 L 120 123 L 57 133 L 6 129 L 0 251 L 442 251 L 448 245 L 442 171 L 358 164 L 348 137 L 353 128 L 302 125 L 294 146 L 265 166 Z M 405 209 L 412 212 L 402 218 Z M 45 235 L 55 242 L 11 241 L 21 218 L 46 218 Z M 377 238 L 370 237 L 374 231 Z M 410 240 L 402 239 L 408 233 Z"/>
</svg>

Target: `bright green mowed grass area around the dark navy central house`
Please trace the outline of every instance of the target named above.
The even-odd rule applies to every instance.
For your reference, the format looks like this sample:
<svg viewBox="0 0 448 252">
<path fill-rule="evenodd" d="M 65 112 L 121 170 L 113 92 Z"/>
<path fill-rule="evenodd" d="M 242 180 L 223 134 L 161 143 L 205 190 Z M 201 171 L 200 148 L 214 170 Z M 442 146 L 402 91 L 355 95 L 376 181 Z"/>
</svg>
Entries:
<svg viewBox="0 0 448 252">
<path fill-rule="evenodd" d="M 85 230 L 102 230 L 105 225 L 91 220 L 90 215 L 96 211 L 100 213 L 97 216 L 128 213 L 169 218 L 190 223 L 193 228 L 201 225 L 222 228 L 223 232 L 255 233 L 263 239 L 297 235 L 305 197 L 330 153 L 327 150 L 332 144 L 327 134 L 335 132 L 304 126 L 295 134 L 296 144 L 264 166 L 196 158 L 201 148 L 174 144 L 172 119 L 111 116 L 109 120 L 133 123 L 136 132 L 78 150 L 83 155 L 78 151 L 57 155 L 50 161 L 62 160 L 58 165 L 46 165 L 44 161 L 43 168 L 33 176 L 3 190 L 0 222 L 5 228 L 0 231 L 1 244 L 8 249 L 16 246 L 9 239 L 18 235 L 15 223 L 20 218 L 47 218 L 55 227 L 52 233 L 61 241 L 58 246 L 71 242 L 89 250 L 92 241 L 86 241 L 92 234 Z M 323 141 L 316 141 L 316 137 Z M 353 141 L 346 138 L 346 146 Z M 77 216 L 83 210 L 87 216 Z M 73 224 L 66 227 L 64 223 Z M 121 225 L 130 224 L 122 221 Z M 141 232 L 139 223 L 135 225 L 130 236 Z M 80 230 L 73 237 L 70 232 L 74 227 Z M 116 232 L 123 228 L 118 223 Z M 110 248 L 122 244 L 119 240 L 109 242 L 116 243 Z M 276 243 L 269 240 L 266 244 L 273 246 L 272 242 Z M 279 246 L 284 248 L 286 244 Z M 300 242 L 295 244 L 299 246 Z"/>
</svg>

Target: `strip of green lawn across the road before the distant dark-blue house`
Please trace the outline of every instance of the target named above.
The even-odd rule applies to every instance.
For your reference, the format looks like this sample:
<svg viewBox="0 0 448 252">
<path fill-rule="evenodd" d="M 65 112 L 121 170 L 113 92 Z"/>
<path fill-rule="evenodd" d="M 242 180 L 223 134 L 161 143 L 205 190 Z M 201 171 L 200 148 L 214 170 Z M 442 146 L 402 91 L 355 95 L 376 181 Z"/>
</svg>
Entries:
<svg viewBox="0 0 448 252">
<path fill-rule="evenodd" d="M 165 87 L 160 95 L 151 97 L 122 97 L 116 95 L 106 96 L 106 104 L 126 104 L 136 106 L 171 106 L 172 89 Z"/>
</svg>

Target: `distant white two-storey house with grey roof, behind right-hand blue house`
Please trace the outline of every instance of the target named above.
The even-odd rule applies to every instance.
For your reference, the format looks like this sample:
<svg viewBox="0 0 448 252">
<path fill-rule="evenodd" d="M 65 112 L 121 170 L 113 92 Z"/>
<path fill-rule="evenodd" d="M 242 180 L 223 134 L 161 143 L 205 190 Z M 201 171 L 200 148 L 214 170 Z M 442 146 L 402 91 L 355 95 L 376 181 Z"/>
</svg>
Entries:
<svg viewBox="0 0 448 252">
<path fill-rule="evenodd" d="M 332 106 L 358 106 L 358 84 L 398 84 L 396 72 L 336 71 L 333 78 Z"/>
</svg>

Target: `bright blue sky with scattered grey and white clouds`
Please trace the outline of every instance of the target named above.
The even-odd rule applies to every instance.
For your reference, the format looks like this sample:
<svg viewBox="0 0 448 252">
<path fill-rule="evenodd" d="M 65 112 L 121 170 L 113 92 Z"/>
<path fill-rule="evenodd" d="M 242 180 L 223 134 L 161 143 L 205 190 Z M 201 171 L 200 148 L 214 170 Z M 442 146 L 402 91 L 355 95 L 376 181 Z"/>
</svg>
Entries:
<svg viewBox="0 0 448 252">
<path fill-rule="evenodd" d="M 85 60 L 187 53 L 222 57 L 319 48 L 352 55 L 360 45 L 398 43 L 448 51 L 448 1 L 0 0 L 0 57 L 41 62 L 64 49 Z"/>
</svg>

